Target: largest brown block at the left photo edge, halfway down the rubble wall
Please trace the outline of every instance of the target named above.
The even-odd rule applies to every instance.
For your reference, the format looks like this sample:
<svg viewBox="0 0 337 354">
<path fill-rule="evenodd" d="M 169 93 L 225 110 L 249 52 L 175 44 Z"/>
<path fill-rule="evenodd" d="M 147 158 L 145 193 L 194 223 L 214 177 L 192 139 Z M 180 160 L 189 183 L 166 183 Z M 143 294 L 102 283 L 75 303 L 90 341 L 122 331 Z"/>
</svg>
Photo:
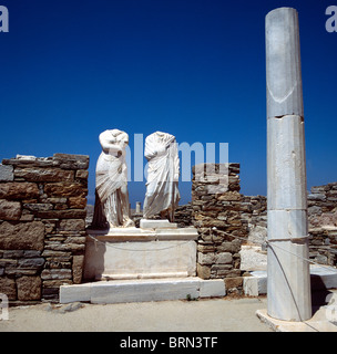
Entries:
<svg viewBox="0 0 337 354">
<path fill-rule="evenodd" d="M 0 225 L 0 249 L 42 250 L 44 225 L 41 221 L 18 225 L 3 221 Z"/>
</svg>

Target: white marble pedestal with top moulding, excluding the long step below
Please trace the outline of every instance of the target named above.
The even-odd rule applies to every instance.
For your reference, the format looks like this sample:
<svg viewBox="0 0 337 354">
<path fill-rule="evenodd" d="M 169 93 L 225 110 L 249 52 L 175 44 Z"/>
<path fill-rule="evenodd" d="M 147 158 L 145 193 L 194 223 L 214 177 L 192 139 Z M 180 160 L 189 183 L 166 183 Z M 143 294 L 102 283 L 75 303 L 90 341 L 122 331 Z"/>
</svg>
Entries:
<svg viewBox="0 0 337 354">
<path fill-rule="evenodd" d="M 195 228 L 88 230 L 84 281 L 194 277 L 196 239 Z"/>
</svg>

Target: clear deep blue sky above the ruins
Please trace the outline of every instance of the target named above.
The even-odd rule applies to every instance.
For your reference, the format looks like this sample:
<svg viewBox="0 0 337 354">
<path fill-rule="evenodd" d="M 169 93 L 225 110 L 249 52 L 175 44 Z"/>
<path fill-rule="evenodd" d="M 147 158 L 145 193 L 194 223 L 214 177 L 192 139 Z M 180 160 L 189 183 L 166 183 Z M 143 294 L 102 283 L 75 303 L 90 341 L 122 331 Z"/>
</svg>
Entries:
<svg viewBox="0 0 337 354">
<path fill-rule="evenodd" d="M 266 195 L 265 32 L 268 11 L 299 12 L 308 187 L 337 180 L 334 1 L 0 0 L 0 160 L 90 155 L 106 128 L 178 143 L 228 143 L 242 192 Z M 335 1 L 337 6 L 337 0 Z M 181 183 L 181 204 L 191 183 Z M 144 183 L 130 183 L 132 207 Z"/>
</svg>

